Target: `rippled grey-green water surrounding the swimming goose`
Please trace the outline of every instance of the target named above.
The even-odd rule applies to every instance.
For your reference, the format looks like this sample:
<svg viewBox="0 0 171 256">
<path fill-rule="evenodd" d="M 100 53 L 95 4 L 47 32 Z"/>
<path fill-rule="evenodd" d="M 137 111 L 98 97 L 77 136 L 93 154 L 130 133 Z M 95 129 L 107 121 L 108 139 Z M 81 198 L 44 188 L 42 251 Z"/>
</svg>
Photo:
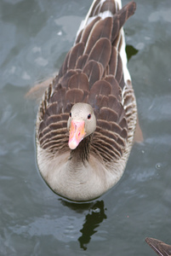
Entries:
<svg viewBox="0 0 171 256">
<path fill-rule="evenodd" d="M 37 170 L 37 102 L 92 1 L 0 0 L 0 255 L 156 255 L 171 244 L 171 2 L 137 0 L 125 27 L 144 142 L 117 185 L 89 204 L 55 195 Z M 123 4 L 128 1 L 123 0 Z"/>
</svg>

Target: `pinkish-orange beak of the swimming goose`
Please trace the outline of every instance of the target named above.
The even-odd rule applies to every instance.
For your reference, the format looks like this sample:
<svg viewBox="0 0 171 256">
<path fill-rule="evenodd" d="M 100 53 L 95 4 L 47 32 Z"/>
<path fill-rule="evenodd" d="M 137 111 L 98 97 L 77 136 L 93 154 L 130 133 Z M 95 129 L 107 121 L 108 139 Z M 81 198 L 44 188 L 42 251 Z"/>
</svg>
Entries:
<svg viewBox="0 0 171 256">
<path fill-rule="evenodd" d="M 71 128 L 70 128 L 70 137 L 69 137 L 69 148 L 75 149 L 77 148 L 78 144 L 83 140 L 85 136 L 84 131 L 84 121 L 74 121 L 71 120 Z"/>
</svg>

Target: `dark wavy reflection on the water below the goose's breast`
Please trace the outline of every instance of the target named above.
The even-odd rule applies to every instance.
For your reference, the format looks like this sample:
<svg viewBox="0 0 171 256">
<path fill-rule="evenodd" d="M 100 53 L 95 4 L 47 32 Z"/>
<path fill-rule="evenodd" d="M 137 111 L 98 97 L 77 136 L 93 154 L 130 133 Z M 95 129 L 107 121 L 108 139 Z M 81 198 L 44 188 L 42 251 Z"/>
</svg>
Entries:
<svg viewBox="0 0 171 256">
<path fill-rule="evenodd" d="M 100 226 L 100 223 L 102 223 L 103 220 L 107 218 L 105 214 L 106 208 L 104 201 L 95 201 L 81 204 L 76 204 L 61 199 L 60 201 L 63 205 L 70 207 L 76 212 L 88 210 L 88 214 L 86 214 L 85 221 L 83 223 L 83 228 L 80 230 L 82 236 L 78 238 L 80 247 L 83 250 L 87 250 L 91 237 L 97 232 L 96 229 Z"/>
</svg>

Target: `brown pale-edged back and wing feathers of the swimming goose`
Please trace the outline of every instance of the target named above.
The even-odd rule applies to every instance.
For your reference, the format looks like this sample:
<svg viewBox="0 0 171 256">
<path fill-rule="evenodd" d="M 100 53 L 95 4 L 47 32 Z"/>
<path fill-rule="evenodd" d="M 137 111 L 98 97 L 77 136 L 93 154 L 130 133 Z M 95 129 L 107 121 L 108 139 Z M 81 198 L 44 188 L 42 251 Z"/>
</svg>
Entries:
<svg viewBox="0 0 171 256">
<path fill-rule="evenodd" d="M 104 20 L 95 17 L 78 34 L 59 76 L 45 93 L 40 107 L 38 135 L 42 148 L 52 152 L 68 148 L 68 113 L 74 103 L 88 102 L 97 118 L 92 148 L 98 154 L 105 155 L 104 160 L 107 161 L 121 157 L 128 127 L 122 105 L 124 80 L 118 49 L 122 40 L 119 31 L 134 14 L 135 3 L 128 3 L 118 12 L 117 9 L 111 0 L 95 2 L 90 17 L 105 10 L 115 15 Z M 101 140 L 103 143 L 100 143 Z"/>
</svg>

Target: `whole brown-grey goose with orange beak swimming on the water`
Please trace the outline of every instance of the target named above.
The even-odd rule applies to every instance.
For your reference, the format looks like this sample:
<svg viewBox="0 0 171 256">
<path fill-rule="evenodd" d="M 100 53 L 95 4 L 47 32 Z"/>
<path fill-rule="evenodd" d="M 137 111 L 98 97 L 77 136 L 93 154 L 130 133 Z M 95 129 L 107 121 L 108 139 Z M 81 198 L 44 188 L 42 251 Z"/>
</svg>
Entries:
<svg viewBox="0 0 171 256">
<path fill-rule="evenodd" d="M 37 165 L 55 193 L 90 201 L 122 177 L 137 120 L 123 24 L 135 3 L 94 0 L 37 113 Z"/>
</svg>

